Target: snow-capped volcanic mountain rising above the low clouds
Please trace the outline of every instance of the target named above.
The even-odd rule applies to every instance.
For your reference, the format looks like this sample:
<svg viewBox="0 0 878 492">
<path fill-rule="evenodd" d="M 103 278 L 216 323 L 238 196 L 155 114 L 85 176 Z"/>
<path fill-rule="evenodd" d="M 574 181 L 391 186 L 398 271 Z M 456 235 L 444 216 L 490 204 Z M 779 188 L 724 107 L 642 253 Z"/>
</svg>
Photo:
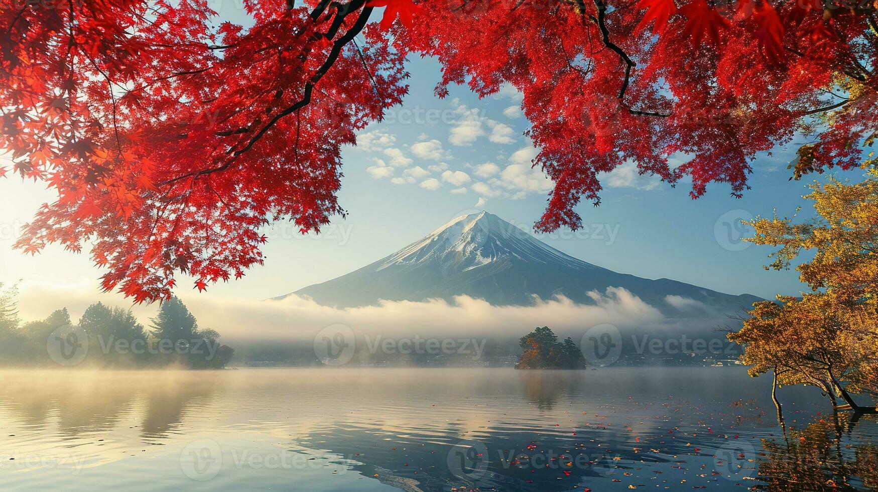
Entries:
<svg viewBox="0 0 878 492">
<path fill-rule="evenodd" d="M 732 313 L 760 300 L 589 264 L 484 211 L 461 215 L 388 257 L 293 294 L 338 308 L 378 300 L 452 300 L 457 295 L 493 305 L 528 306 L 534 296 L 550 300 L 558 295 L 594 304 L 594 291 L 603 293 L 608 287 L 622 287 L 671 317 Z"/>
</svg>

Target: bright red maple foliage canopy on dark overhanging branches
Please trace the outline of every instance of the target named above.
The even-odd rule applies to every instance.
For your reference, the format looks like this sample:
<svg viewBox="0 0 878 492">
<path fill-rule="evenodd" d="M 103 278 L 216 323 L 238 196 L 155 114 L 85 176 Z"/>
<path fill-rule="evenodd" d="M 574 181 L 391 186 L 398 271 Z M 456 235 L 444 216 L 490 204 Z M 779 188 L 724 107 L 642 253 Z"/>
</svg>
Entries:
<svg viewBox="0 0 878 492">
<path fill-rule="evenodd" d="M 555 182 L 543 230 L 578 227 L 579 199 L 599 203 L 599 173 L 625 162 L 691 177 L 693 197 L 739 195 L 753 156 L 797 133 L 813 135 L 802 172 L 859 164 L 878 119 L 872 3 L 244 5 L 246 30 L 206 0 L 2 0 L 0 175 L 59 197 L 19 248 L 89 241 L 104 289 L 136 301 L 167 299 L 178 271 L 199 290 L 241 277 L 266 223 L 319 231 L 343 213 L 342 145 L 400 103 L 409 54 L 441 62 L 440 97 L 522 92 Z"/>
</svg>

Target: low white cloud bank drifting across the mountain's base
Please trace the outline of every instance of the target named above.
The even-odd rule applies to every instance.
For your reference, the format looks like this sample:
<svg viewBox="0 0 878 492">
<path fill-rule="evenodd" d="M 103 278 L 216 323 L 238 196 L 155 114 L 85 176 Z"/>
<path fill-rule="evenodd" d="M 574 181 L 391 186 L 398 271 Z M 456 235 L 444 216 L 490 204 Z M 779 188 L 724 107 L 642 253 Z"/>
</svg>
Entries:
<svg viewBox="0 0 878 492">
<path fill-rule="evenodd" d="M 225 344 L 313 339 L 320 329 L 348 325 L 357 334 L 382 336 L 483 336 L 517 337 L 536 326 L 549 326 L 559 336 L 581 336 L 603 323 L 623 333 L 657 336 L 709 333 L 727 322 L 721 315 L 666 318 L 659 309 L 629 291 L 608 287 L 589 294 L 594 304 L 577 304 L 565 297 L 535 299 L 531 306 L 492 306 L 485 300 L 458 296 L 445 300 L 381 300 L 377 306 L 333 308 L 309 298 L 291 295 L 284 300 L 223 299 L 205 294 L 184 294 L 184 300 L 202 328 L 215 329 Z M 68 308 L 76 322 L 85 308 L 98 300 L 109 306 L 131 308 L 118 294 L 94 293 L 93 286 L 21 286 L 18 308 L 25 321 L 45 318 L 54 309 Z M 685 300 L 671 304 L 694 308 Z M 144 325 L 155 316 L 157 305 L 134 306 Z"/>
</svg>

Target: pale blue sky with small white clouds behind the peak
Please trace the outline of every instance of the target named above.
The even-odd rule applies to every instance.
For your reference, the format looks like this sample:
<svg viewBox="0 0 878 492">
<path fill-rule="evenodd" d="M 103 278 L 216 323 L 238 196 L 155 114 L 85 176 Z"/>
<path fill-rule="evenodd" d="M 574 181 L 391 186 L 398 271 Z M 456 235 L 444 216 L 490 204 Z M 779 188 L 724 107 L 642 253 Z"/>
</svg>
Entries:
<svg viewBox="0 0 878 492">
<path fill-rule="evenodd" d="M 519 95 L 503 90 L 479 99 L 466 87 L 452 87 L 448 98 L 439 99 L 433 95 L 437 62 L 416 59 L 409 71 L 404 104 L 385 122 L 366 128 L 359 148 L 343 152 L 339 199 L 348 218 L 335 218 L 323 235 L 305 237 L 277 224 L 268 232 L 263 267 L 201 295 L 258 300 L 289 293 L 385 257 L 461 213 L 485 209 L 532 226 L 543 213 L 551 182 L 529 167 L 536 149 L 523 135 L 528 121 L 517 109 Z M 809 205 L 801 195 L 810 181 L 788 181 L 794 151 L 791 145 L 759 156 L 752 190 L 743 199 L 731 198 L 727 185 L 712 185 L 705 197 L 693 200 L 688 183 L 671 188 L 626 166 L 602 178 L 600 207 L 580 204 L 586 228 L 538 237 L 573 257 L 641 277 L 763 297 L 797 293 L 795 271 L 764 271 L 771 250 L 739 242 L 740 232 L 727 225 L 771 214 L 773 207 L 789 215 Z M 845 176 L 857 179 L 860 172 Z M 32 258 L 11 250 L 18 225 L 51 199 L 44 185 L 0 180 L 0 280 L 81 286 L 97 294 L 102 271 L 87 255 L 50 247 Z M 800 215 L 810 213 L 808 206 Z M 191 283 L 180 285 L 186 292 Z"/>
</svg>

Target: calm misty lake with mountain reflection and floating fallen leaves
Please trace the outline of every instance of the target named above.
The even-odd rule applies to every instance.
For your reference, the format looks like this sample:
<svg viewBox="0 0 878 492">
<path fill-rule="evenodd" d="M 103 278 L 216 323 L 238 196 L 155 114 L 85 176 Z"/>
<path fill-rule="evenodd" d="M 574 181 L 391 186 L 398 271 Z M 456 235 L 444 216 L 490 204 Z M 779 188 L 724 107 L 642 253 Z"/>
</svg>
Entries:
<svg viewBox="0 0 878 492">
<path fill-rule="evenodd" d="M 733 367 L 0 371 L 0 489 L 847 490 L 878 421 Z M 818 465 L 817 463 L 821 463 Z"/>
</svg>

